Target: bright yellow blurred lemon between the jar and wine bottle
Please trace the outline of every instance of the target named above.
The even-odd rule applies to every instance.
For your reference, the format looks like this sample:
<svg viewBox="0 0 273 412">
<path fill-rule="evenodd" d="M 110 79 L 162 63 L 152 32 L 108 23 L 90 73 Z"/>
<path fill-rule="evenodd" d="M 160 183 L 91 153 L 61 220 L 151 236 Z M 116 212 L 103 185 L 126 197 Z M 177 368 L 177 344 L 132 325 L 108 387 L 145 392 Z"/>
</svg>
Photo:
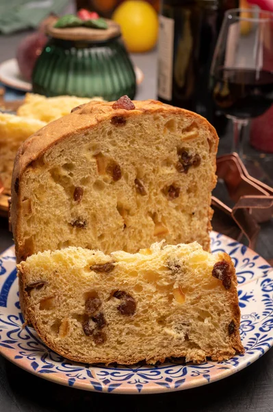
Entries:
<svg viewBox="0 0 273 412">
<path fill-rule="evenodd" d="M 120 25 L 129 52 L 148 52 L 157 43 L 157 13 L 146 1 L 123 2 L 116 8 L 112 18 Z"/>
</svg>

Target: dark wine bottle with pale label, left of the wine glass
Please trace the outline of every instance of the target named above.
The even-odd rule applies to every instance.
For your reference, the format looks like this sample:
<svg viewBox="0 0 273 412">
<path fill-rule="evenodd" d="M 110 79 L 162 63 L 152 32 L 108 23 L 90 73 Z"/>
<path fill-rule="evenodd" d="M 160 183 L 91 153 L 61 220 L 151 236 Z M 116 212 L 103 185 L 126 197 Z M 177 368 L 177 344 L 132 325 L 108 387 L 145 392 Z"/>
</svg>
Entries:
<svg viewBox="0 0 273 412">
<path fill-rule="evenodd" d="M 238 6 L 239 0 L 161 1 L 158 99 L 207 117 L 220 134 L 226 119 L 213 103 L 209 69 L 224 12 Z"/>
</svg>

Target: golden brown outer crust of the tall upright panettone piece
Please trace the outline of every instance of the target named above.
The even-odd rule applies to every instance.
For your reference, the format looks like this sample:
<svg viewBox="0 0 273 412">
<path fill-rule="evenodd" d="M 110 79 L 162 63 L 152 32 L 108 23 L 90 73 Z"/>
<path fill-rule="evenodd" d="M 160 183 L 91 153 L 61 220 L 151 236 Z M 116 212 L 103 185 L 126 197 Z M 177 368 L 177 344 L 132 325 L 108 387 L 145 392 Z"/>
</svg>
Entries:
<svg viewBox="0 0 273 412">
<path fill-rule="evenodd" d="M 133 103 L 135 104 L 135 110 L 127 111 L 123 108 L 112 108 L 113 102 L 92 101 L 80 106 L 77 110 L 73 111 L 73 113 L 70 113 L 70 115 L 57 119 L 40 129 L 37 133 L 29 137 L 18 150 L 12 176 L 12 205 L 10 210 L 17 262 L 20 262 L 22 258 L 26 258 L 26 256 L 22 255 L 23 250 L 21 250 L 21 245 L 19 244 L 21 239 L 20 227 L 18 225 L 18 218 L 21 213 L 21 176 L 25 170 L 27 170 L 31 162 L 37 161 L 44 152 L 59 141 L 62 141 L 75 133 L 80 133 L 88 128 L 92 128 L 107 119 L 110 120 L 113 116 L 131 117 L 142 115 L 143 113 L 166 113 L 183 115 L 184 117 L 195 117 L 196 122 L 198 122 L 200 126 L 207 128 L 210 131 L 211 140 L 213 141 L 213 144 L 210 146 L 213 149 L 213 155 L 216 155 L 218 135 L 213 126 L 200 115 L 186 111 L 183 108 L 176 108 L 169 106 L 168 104 L 157 102 L 156 100 L 144 100 L 142 102 L 134 101 Z M 213 166 L 214 170 L 216 170 L 216 156 L 213 156 L 213 158 L 215 159 Z M 207 249 L 209 250 L 209 245 Z"/>
</svg>

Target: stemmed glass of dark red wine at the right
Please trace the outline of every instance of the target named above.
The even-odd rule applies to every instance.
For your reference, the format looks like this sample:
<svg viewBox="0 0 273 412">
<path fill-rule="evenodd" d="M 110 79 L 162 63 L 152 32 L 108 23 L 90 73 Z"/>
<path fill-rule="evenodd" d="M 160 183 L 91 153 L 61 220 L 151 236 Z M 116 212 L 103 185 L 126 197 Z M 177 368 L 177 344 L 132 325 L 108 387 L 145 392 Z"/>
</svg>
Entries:
<svg viewBox="0 0 273 412">
<path fill-rule="evenodd" d="M 210 80 L 218 110 L 233 121 L 233 152 L 242 158 L 246 126 L 273 103 L 273 13 L 225 13 Z"/>
</svg>

